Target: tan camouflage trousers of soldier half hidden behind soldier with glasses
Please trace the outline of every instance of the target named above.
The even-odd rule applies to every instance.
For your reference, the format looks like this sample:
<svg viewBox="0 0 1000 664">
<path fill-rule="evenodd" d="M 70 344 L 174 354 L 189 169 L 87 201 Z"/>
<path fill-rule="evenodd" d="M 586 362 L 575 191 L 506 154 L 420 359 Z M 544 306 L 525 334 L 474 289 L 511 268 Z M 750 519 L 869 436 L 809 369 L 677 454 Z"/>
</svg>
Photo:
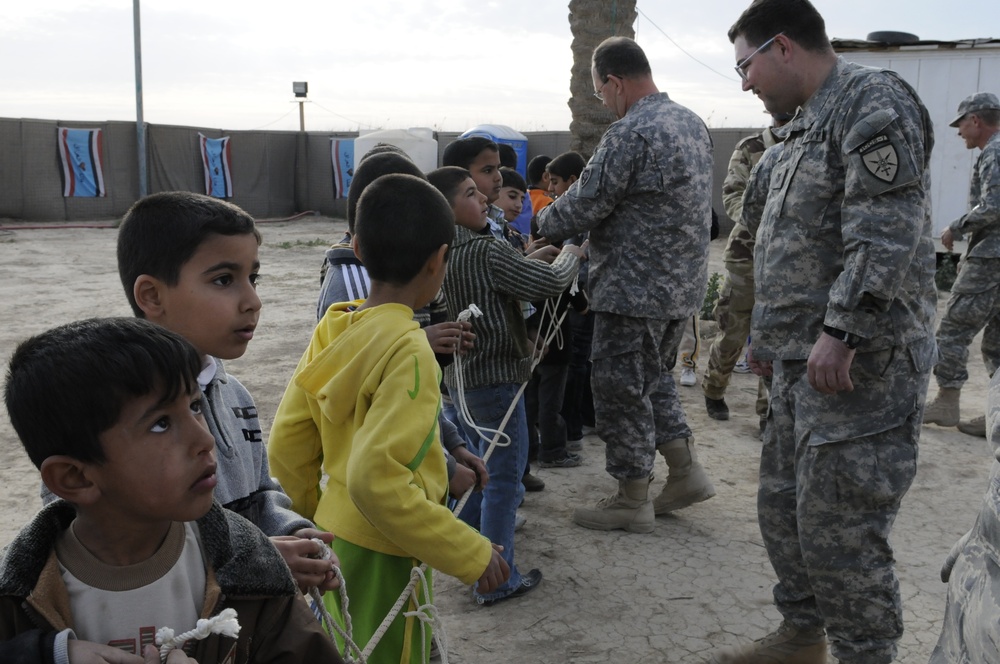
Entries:
<svg viewBox="0 0 1000 664">
<path fill-rule="evenodd" d="M 715 320 L 719 331 L 708 349 L 708 366 L 701 388 L 709 399 L 722 399 L 733 375 L 733 367 L 743 354 L 750 334 L 750 313 L 753 311 L 753 262 L 726 262 L 726 277 L 715 302 Z M 761 378 L 757 383 L 756 411 L 767 415 L 768 389 Z"/>
</svg>

